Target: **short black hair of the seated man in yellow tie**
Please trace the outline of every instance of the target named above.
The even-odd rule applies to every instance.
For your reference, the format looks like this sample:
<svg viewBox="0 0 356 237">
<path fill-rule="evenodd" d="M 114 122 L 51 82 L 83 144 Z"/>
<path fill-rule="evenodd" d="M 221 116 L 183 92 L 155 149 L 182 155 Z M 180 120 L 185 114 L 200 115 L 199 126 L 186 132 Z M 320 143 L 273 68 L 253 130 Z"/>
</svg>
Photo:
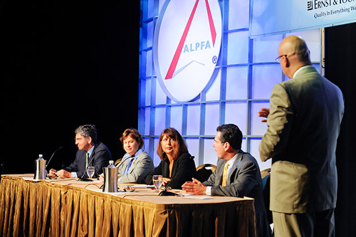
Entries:
<svg viewBox="0 0 356 237">
<path fill-rule="evenodd" d="M 229 142 L 230 146 L 234 150 L 241 149 L 242 143 L 242 132 L 236 125 L 220 125 L 216 128 L 217 132 L 221 132 L 220 141 L 221 143 Z"/>
</svg>

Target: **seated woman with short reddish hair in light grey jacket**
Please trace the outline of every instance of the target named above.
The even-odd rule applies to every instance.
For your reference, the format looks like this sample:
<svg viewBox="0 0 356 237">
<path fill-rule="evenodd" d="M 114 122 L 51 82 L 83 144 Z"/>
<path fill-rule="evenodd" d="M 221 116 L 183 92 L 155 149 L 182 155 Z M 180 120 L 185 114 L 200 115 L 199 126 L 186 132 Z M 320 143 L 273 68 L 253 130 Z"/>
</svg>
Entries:
<svg viewBox="0 0 356 237">
<path fill-rule="evenodd" d="M 137 182 L 145 183 L 147 174 L 153 171 L 153 160 L 147 152 L 143 150 L 143 139 L 135 128 L 127 128 L 120 137 L 122 147 L 127 152 L 122 157 L 119 164 L 119 182 Z M 104 181 L 104 176 L 100 175 L 100 181 Z"/>
</svg>

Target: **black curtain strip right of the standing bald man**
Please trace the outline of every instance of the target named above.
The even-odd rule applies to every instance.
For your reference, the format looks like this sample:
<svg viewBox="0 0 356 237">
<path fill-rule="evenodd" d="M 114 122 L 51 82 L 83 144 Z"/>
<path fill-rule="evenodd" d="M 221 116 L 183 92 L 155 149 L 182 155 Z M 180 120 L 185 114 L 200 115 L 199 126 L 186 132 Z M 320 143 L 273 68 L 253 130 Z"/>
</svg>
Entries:
<svg viewBox="0 0 356 237">
<path fill-rule="evenodd" d="M 356 236 L 355 66 L 356 23 L 325 28 L 325 77 L 338 85 L 345 98 L 345 115 L 337 140 L 338 193 L 336 236 Z"/>
</svg>

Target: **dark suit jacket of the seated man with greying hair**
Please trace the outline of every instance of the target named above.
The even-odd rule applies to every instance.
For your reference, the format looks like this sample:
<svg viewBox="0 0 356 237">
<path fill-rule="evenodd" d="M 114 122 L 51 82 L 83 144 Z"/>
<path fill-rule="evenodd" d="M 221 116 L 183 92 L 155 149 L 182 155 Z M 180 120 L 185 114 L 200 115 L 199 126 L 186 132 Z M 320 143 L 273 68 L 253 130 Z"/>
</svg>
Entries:
<svg viewBox="0 0 356 237">
<path fill-rule="evenodd" d="M 77 172 L 78 178 L 88 178 L 88 174 L 85 172 L 86 164 L 86 151 L 78 149 L 75 154 L 75 160 L 69 167 L 65 170 L 68 172 Z M 95 167 L 95 174 L 93 177 L 99 177 L 99 174 L 103 173 L 103 167 L 107 167 L 109 160 L 112 159 L 108 147 L 103 144 L 103 142 L 98 142 L 95 144 L 93 153 L 89 157 L 88 166 Z"/>
</svg>

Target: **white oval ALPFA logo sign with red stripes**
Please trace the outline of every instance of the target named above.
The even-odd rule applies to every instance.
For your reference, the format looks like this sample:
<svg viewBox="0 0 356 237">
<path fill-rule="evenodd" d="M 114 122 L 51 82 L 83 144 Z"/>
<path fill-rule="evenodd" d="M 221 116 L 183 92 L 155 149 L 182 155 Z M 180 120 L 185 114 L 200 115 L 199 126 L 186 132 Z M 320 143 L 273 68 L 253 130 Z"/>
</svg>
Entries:
<svg viewBox="0 0 356 237">
<path fill-rule="evenodd" d="M 197 98 L 219 59 L 221 10 L 218 0 L 166 1 L 153 43 L 157 80 L 174 101 Z"/>
</svg>

